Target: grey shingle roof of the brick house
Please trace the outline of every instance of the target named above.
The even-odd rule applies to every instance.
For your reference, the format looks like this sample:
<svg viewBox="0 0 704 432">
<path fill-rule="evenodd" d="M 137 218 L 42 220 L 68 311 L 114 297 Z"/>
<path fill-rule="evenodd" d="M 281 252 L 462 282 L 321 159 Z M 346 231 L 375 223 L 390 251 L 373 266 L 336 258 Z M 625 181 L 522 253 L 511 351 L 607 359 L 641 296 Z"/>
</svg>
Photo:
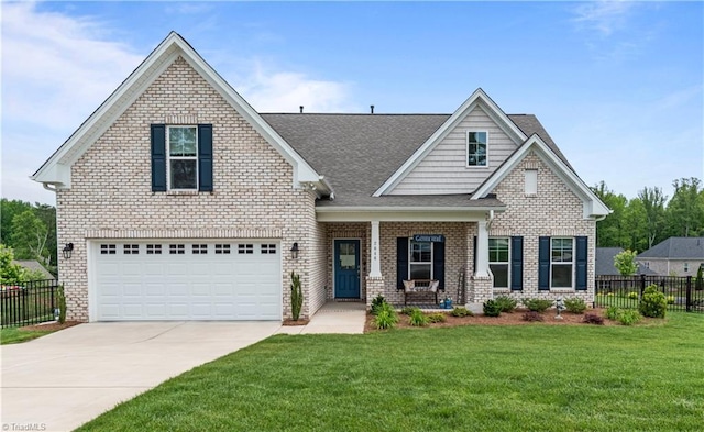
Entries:
<svg viewBox="0 0 704 432">
<path fill-rule="evenodd" d="M 334 201 L 318 206 L 501 207 L 495 199 L 470 201 L 464 196 L 380 197 L 372 195 L 450 114 L 264 113 L 262 118 L 323 175 Z M 537 133 L 565 163 L 564 156 L 535 115 L 509 115 L 526 134 Z"/>
</svg>

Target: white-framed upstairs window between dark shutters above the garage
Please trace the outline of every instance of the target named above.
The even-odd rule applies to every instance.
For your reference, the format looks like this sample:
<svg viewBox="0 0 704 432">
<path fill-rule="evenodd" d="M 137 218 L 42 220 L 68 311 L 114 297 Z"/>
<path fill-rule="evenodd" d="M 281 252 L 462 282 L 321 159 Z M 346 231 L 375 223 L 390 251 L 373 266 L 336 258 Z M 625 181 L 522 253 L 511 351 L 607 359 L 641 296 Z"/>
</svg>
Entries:
<svg viewBox="0 0 704 432">
<path fill-rule="evenodd" d="M 166 164 L 170 190 L 198 190 L 198 128 L 168 126 Z"/>
</svg>

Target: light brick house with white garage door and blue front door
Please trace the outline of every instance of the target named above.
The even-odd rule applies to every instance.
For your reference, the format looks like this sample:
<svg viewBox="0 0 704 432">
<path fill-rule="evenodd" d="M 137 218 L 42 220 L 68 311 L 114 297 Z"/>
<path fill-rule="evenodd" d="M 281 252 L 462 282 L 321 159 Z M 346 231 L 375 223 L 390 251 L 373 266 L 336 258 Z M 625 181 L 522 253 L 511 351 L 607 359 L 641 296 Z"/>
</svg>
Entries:
<svg viewBox="0 0 704 432">
<path fill-rule="evenodd" d="M 330 299 L 594 296 L 609 210 L 534 115 L 261 114 L 170 33 L 33 175 L 72 320 L 282 320 Z M 460 278 L 463 276 L 463 278 Z"/>
</svg>

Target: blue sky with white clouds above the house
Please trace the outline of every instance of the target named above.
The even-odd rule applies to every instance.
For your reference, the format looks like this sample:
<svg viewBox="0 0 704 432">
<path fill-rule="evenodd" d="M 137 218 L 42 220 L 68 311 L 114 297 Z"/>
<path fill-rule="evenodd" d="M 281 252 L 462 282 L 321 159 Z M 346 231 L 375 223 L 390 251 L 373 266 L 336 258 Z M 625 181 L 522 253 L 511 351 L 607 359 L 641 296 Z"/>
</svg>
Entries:
<svg viewBox="0 0 704 432">
<path fill-rule="evenodd" d="M 704 177 L 704 3 L 2 2 L 2 197 L 176 31 L 260 112 L 532 113 L 588 186 Z"/>
</svg>

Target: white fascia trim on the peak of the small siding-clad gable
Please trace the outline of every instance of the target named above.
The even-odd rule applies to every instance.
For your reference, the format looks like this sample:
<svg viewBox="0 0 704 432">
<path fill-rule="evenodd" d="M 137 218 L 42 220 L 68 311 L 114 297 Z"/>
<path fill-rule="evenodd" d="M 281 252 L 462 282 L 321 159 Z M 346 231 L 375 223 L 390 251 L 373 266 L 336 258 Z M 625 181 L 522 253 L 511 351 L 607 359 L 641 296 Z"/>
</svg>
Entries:
<svg viewBox="0 0 704 432">
<path fill-rule="evenodd" d="M 458 108 L 452 115 L 430 135 L 428 140 L 400 166 L 373 195 L 381 197 L 391 192 L 420 162 L 452 132 L 472 110 L 481 106 L 486 114 L 512 139 L 517 145 L 525 142 L 527 136 L 516 124 L 502 111 L 501 108 L 481 88 L 474 90 L 464 103 Z"/>
</svg>

